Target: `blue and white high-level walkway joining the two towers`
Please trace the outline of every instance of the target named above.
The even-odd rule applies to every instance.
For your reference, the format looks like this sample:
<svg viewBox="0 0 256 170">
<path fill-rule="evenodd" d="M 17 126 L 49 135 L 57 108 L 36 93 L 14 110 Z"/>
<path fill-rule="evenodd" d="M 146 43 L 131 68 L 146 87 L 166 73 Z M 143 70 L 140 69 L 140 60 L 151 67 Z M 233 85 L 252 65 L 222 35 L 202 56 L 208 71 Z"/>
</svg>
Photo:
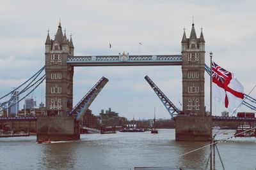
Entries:
<svg viewBox="0 0 256 170">
<path fill-rule="evenodd" d="M 181 66 L 181 55 L 69 56 L 71 66 Z"/>
</svg>

